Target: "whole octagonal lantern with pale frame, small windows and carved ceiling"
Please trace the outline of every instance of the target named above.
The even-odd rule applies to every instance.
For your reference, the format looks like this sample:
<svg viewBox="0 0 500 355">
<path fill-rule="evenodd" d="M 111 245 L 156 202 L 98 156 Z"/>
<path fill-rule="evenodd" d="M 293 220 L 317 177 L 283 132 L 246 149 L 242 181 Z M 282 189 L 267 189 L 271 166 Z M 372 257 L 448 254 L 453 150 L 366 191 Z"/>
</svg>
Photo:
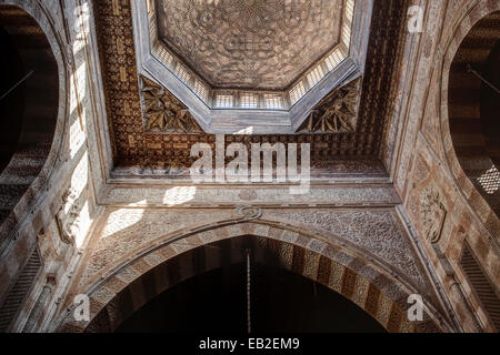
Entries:
<svg viewBox="0 0 500 355">
<path fill-rule="evenodd" d="M 183 102 L 206 132 L 252 126 L 253 134 L 293 134 L 324 92 L 363 73 L 372 6 L 371 0 L 132 2 L 139 71 Z M 270 112 L 268 122 L 258 123 L 260 111 Z"/>
</svg>

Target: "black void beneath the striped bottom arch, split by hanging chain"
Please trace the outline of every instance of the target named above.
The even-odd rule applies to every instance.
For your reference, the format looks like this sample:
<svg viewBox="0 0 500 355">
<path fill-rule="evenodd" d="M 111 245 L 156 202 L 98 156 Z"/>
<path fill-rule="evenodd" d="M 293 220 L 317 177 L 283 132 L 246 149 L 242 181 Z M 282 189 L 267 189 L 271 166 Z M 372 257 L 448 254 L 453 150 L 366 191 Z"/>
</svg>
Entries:
<svg viewBox="0 0 500 355">
<path fill-rule="evenodd" d="M 382 333 L 384 328 L 338 293 L 287 270 L 251 267 L 252 333 Z M 127 332 L 247 333 L 246 264 L 184 281 L 151 300 L 117 328 Z"/>
</svg>

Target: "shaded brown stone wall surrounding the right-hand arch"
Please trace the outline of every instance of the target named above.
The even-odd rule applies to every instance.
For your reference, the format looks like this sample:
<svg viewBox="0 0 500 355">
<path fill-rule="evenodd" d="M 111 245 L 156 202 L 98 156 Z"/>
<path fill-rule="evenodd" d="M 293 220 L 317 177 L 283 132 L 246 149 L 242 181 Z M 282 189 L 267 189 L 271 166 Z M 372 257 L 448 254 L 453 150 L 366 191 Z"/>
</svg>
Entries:
<svg viewBox="0 0 500 355">
<path fill-rule="evenodd" d="M 448 78 L 462 39 L 500 3 L 414 3 L 426 10 L 424 28 L 422 33 L 408 33 L 407 42 L 412 44 L 406 50 L 394 112 L 399 139 L 386 162 L 463 331 L 494 331 L 460 258 L 468 243 L 498 294 L 500 223 L 457 160 L 448 122 Z"/>
</svg>

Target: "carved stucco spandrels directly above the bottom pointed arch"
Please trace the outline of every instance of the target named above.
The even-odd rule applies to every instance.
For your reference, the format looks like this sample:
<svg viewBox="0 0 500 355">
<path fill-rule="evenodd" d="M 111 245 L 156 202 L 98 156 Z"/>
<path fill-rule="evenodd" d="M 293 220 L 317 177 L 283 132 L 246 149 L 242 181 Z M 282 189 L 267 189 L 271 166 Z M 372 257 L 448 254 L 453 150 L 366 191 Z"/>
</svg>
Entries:
<svg viewBox="0 0 500 355">
<path fill-rule="evenodd" d="M 263 220 L 284 222 L 300 231 L 316 231 L 319 235 L 331 236 L 352 243 L 367 255 L 373 255 L 387 264 L 392 264 L 397 273 L 404 274 L 416 286 L 423 281 L 413 252 L 392 209 L 379 210 L 263 210 Z M 79 288 L 93 282 L 100 274 L 126 261 L 137 252 L 151 246 L 154 241 L 179 231 L 208 225 L 216 221 L 234 219 L 234 211 L 228 210 L 143 210 L 110 209 L 97 230 L 86 266 L 79 281 Z M 259 233 L 269 231 L 267 225 Z M 244 234 L 237 229 L 237 234 Z M 291 231 L 293 240 L 301 237 Z M 302 236 L 303 237 L 303 236 Z M 338 237 L 336 240 L 336 237 Z M 286 237 L 287 239 L 287 237 Z"/>
</svg>

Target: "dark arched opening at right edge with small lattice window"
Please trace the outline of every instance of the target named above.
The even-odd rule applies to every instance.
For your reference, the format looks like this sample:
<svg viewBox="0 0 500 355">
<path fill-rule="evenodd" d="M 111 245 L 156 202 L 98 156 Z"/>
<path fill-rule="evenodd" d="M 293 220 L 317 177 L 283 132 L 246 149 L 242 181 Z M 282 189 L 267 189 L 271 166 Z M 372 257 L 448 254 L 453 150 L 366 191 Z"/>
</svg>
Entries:
<svg viewBox="0 0 500 355">
<path fill-rule="evenodd" d="M 500 11 L 480 20 L 450 68 L 449 120 L 464 174 L 500 215 Z"/>
</svg>

